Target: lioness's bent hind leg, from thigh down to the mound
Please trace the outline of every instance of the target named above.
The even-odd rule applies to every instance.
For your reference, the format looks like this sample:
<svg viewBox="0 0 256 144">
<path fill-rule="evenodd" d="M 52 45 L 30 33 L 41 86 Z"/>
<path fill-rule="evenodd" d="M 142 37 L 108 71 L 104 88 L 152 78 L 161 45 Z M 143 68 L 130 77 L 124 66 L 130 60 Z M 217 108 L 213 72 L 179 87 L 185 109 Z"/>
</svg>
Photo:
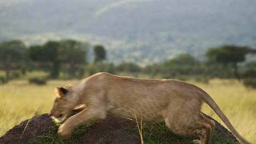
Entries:
<svg viewBox="0 0 256 144">
<path fill-rule="evenodd" d="M 165 111 L 166 127 L 180 135 L 199 136 L 200 140 L 194 140 L 196 144 L 210 143 L 214 124 L 210 119 L 201 115 L 200 107 L 172 107 Z M 213 130 L 212 130 L 213 129 Z"/>
</svg>

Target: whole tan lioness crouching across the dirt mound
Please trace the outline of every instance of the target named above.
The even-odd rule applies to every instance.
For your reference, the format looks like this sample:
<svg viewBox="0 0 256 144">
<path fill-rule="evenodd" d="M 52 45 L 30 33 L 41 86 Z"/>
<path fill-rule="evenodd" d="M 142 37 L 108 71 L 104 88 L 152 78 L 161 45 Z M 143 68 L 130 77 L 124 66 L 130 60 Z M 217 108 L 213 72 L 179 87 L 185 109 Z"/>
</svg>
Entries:
<svg viewBox="0 0 256 144">
<path fill-rule="evenodd" d="M 63 121 L 76 106 L 83 109 L 60 125 L 58 134 L 62 139 L 69 139 L 75 127 L 100 122 L 106 113 L 113 113 L 131 119 L 142 117 L 143 122 L 165 121 L 166 127 L 178 134 L 199 136 L 200 140 L 194 143 L 208 144 L 215 123 L 201 114 L 205 101 L 239 140 L 249 143 L 232 127 L 210 95 L 183 81 L 97 73 L 74 85 L 57 87 L 55 91 L 56 99 L 50 112 L 54 118 Z"/>
</svg>

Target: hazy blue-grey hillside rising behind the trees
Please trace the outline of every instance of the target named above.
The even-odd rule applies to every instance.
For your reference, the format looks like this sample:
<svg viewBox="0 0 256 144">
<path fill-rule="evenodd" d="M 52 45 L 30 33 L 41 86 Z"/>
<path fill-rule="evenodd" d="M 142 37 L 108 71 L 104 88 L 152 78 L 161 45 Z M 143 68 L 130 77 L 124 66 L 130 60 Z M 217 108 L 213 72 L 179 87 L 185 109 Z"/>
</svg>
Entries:
<svg viewBox="0 0 256 144">
<path fill-rule="evenodd" d="M 0 40 L 100 43 L 113 62 L 148 64 L 182 52 L 203 59 L 209 47 L 256 47 L 255 5 L 254 0 L 0 1 Z"/>
</svg>

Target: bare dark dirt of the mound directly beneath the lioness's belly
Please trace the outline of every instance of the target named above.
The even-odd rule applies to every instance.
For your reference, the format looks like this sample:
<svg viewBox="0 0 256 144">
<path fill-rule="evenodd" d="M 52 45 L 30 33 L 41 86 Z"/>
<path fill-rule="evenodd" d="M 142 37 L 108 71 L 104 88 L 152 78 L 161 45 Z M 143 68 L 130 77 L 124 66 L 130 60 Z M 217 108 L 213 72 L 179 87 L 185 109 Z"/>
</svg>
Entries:
<svg viewBox="0 0 256 144">
<path fill-rule="evenodd" d="M 136 128 L 136 122 L 127 118 L 109 115 L 103 122 L 97 123 L 80 137 L 78 143 L 141 143 L 136 131 L 129 133 L 125 127 Z"/>
</svg>

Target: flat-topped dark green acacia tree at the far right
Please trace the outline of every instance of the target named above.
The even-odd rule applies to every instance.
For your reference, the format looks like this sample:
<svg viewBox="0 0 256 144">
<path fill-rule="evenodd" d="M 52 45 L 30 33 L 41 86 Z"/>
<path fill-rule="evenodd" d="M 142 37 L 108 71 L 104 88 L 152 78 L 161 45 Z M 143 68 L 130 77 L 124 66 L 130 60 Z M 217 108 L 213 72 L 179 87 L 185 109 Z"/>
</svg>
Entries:
<svg viewBox="0 0 256 144">
<path fill-rule="evenodd" d="M 247 46 L 224 45 L 217 48 L 208 49 L 205 53 L 209 61 L 222 63 L 224 67 L 231 63 L 234 69 L 234 75 L 240 79 L 237 71 L 237 63 L 245 61 L 248 53 L 255 53 L 256 50 Z"/>
</svg>

